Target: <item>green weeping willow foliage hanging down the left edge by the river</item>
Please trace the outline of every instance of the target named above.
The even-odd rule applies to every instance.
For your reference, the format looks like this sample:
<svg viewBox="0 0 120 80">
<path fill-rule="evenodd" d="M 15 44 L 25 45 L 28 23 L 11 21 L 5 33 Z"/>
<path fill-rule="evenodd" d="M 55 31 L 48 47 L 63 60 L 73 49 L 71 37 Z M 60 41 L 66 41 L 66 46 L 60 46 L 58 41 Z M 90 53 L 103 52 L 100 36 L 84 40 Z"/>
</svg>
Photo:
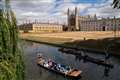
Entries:
<svg viewBox="0 0 120 80">
<path fill-rule="evenodd" d="M 11 10 L 10 0 L 2 0 L 1 3 L 3 5 L 0 9 L 0 80 L 23 80 L 24 67 L 18 47 L 16 17 Z"/>
</svg>

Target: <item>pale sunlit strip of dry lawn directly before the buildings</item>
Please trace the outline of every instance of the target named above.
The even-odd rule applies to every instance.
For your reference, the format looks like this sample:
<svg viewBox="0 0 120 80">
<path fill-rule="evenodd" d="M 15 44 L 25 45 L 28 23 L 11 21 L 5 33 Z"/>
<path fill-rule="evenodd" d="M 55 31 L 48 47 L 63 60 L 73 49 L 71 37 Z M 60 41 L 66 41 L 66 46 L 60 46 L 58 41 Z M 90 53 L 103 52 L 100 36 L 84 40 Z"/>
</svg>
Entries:
<svg viewBox="0 0 120 80">
<path fill-rule="evenodd" d="M 88 39 L 103 39 L 114 37 L 113 31 L 76 31 L 76 32 L 56 32 L 56 33 L 22 33 L 22 37 L 34 36 L 34 37 L 49 37 L 49 38 L 62 38 L 72 40 L 88 40 Z M 116 35 L 120 37 L 120 31 L 116 32 Z"/>
</svg>

